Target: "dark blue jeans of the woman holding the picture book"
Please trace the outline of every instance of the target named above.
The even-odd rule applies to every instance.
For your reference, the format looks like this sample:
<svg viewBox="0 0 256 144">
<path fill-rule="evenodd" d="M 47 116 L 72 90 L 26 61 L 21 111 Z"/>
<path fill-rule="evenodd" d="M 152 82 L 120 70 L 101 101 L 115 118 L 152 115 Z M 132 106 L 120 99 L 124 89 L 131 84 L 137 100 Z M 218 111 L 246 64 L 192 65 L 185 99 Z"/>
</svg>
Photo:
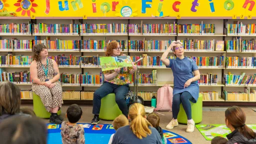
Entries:
<svg viewBox="0 0 256 144">
<path fill-rule="evenodd" d="M 115 102 L 117 103 L 119 109 L 122 111 L 126 117 L 128 116 L 127 104 L 124 97 L 128 93 L 128 84 L 117 85 L 109 82 L 104 82 L 94 93 L 93 93 L 93 114 L 99 114 L 99 109 L 101 105 L 101 98 L 109 93 L 115 93 Z"/>
</svg>

